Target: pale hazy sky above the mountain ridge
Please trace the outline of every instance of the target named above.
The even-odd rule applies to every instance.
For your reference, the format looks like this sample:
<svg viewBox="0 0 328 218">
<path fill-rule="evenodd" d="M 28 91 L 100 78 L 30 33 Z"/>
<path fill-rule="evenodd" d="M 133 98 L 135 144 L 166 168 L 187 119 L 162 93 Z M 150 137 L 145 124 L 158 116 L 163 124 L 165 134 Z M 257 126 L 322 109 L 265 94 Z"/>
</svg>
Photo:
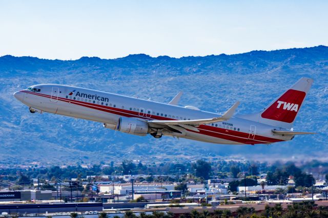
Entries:
<svg viewBox="0 0 328 218">
<path fill-rule="evenodd" d="M 0 56 L 204 56 L 328 45 L 328 1 L 4 1 Z"/>
</svg>

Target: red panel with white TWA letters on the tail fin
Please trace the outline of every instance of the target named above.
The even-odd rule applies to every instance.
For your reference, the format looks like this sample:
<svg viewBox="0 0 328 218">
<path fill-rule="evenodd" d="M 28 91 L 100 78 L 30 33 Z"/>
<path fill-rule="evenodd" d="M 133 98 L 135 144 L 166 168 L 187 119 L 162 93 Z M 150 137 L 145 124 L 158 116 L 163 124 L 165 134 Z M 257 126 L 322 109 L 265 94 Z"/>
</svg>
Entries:
<svg viewBox="0 0 328 218">
<path fill-rule="evenodd" d="M 297 90 L 286 91 L 277 101 L 265 110 L 261 117 L 291 123 L 305 98 L 305 92 Z"/>
</svg>

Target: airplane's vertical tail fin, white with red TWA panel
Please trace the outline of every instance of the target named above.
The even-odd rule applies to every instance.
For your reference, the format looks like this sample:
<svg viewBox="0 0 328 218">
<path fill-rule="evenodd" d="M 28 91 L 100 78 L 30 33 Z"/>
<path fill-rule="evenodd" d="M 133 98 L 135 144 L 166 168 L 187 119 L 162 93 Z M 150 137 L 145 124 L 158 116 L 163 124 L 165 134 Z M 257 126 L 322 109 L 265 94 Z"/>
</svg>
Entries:
<svg viewBox="0 0 328 218">
<path fill-rule="evenodd" d="M 260 122 L 282 128 L 292 128 L 294 120 L 305 99 L 306 94 L 311 88 L 313 79 L 302 77 L 289 90 L 284 92 L 259 114 L 252 115 Z M 247 119 L 247 116 L 243 116 Z"/>
</svg>

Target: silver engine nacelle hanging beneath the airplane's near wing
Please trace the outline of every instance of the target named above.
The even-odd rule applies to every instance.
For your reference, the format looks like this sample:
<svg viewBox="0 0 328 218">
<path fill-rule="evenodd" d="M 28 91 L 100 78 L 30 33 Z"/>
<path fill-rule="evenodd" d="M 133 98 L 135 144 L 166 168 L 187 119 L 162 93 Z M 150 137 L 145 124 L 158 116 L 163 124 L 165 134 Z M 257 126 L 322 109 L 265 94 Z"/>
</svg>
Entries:
<svg viewBox="0 0 328 218">
<path fill-rule="evenodd" d="M 146 136 L 151 129 L 146 122 L 135 118 L 121 117 L 118 119 L 117 130 L 132 135 Z"/>
</svg>

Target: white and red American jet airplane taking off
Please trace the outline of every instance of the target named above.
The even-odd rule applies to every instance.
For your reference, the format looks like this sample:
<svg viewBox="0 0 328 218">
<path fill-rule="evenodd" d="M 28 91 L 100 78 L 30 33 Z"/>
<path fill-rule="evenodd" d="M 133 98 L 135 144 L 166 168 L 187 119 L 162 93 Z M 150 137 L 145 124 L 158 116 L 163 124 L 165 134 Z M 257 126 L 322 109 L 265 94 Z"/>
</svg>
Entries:
<svg viewBox="0 0 328 218">
<path fill-rule="evenodd" d="M 58 84 L 37 84 L 14 93 L 31 113 L 44 112 L 103 123 L 119 132 L 155 138 L 172 136 L 216 144 L 272 144 L 295 135 L 293 123 L 313 79 L 301 78 L 256 114 L 235 115 L 239 101 L 223 115 L 169 103 Z"/>
</svg>

